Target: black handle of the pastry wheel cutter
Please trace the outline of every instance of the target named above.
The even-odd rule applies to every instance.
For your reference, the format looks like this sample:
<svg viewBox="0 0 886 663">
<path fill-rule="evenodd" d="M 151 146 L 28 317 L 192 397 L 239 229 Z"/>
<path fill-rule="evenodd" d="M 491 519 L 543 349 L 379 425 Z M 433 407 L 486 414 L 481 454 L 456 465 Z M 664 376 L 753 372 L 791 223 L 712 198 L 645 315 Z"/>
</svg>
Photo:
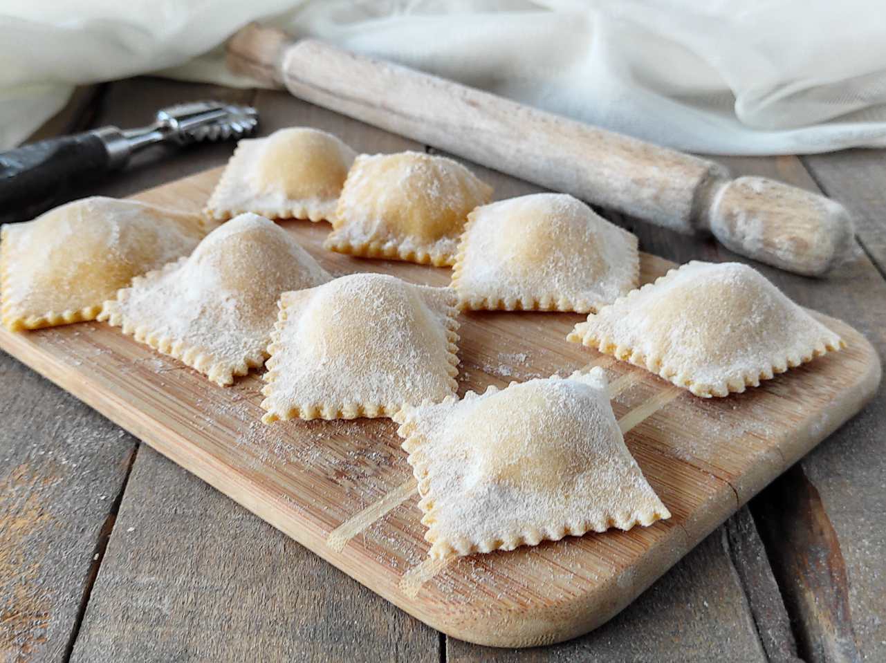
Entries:
<svg viewBox="0 0 886 663">
<path fill-rule="evenodd" d="M 95 133 L 66 135 L 0 153 L 0 223 L 27 221 L 111 170 Z"/>
</svg>

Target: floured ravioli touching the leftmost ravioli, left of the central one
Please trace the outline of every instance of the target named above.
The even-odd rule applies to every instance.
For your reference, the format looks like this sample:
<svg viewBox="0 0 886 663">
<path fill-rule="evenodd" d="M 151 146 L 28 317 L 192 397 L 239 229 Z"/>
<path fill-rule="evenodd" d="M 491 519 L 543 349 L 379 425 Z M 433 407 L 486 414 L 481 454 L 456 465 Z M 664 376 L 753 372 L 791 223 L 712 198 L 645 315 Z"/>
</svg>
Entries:
<svg viewBox="0 0 886 663">
<path fill-rule="evenodd" d="M 225 386 L 268 357 L 280 293 L 330 278 L 283 228 L 241 214 L 190 257 L 136 278 L 99 320 Z"/>
</svg>

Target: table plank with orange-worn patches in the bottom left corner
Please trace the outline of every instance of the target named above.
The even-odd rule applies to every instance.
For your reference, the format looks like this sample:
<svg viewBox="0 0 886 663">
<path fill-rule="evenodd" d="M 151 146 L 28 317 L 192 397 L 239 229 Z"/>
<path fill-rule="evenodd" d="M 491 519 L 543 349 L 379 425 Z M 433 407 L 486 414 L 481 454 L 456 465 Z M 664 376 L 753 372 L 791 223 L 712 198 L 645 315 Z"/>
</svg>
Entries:
<svg viewBox="0 0 886 663">
<path fill-rule="evenodd" d="M 0 660 L 63 661 L 136 440 L 0 352 Z"/>
</svg>

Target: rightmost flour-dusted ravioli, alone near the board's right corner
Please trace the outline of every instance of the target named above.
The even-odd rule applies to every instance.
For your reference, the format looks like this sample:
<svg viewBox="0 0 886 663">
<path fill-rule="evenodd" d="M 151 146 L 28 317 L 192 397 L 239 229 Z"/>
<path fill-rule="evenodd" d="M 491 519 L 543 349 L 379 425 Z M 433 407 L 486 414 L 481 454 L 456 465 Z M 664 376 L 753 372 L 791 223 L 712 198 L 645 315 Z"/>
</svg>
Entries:
<svg viewBox="0 0 886 663">
<path fill-rule="evenodd" d="M 589 315 L 568 338 L 702 397 L 757 387 L 843 346 L 753 268 L 698 261 Z"/>
</svg>

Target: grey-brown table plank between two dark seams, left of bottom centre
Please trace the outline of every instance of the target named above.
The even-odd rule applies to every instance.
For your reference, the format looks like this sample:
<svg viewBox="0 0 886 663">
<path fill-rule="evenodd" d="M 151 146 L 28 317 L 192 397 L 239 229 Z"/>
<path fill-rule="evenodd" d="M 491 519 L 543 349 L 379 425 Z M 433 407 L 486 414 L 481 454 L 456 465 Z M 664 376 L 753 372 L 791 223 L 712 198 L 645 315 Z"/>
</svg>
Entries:
<svg viewBox="0 0 886 663">
<path fill-rule="evenodd" d="M 438 661 L 437 632 L 150 447 L 73 661 Z"/>
</svg>

